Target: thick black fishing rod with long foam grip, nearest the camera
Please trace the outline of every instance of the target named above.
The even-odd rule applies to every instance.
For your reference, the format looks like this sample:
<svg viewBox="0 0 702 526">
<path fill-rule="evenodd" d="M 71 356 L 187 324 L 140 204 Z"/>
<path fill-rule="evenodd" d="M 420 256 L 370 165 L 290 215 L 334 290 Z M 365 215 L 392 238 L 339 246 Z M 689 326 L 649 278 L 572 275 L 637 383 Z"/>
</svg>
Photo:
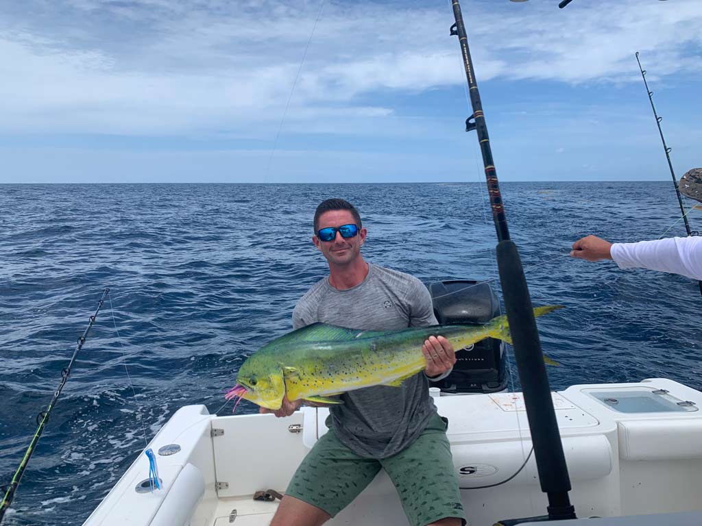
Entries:
<svg viewBox="0 0 702 526">
<path fill-rule="evenodd" d="M 510 239 L 505 207 L 490 149 L 487 125 L 468 49 L 468 36 L 465 34 L 461 6 L 458 4 L 458 0 L 452 0 L 452 4 L 456 23 L 451 26 L 451 35 L 458 35 L 458 41 L 461 43 L 463 65 L 465 66 L 465 75 L 468 78 L 468 93 L 473 110 L 473 114 L 465 121 L 465 130 L 477 130 L 492 217 L 497 231 L 496 255 L 505 311 L 512 332 L 515 360 L 524 392 L 524 404 L 529 418 L 531 441 L 534 444 L 538 478 L 541 490 L 548 495 L 548 515 L 536 518 L 536 520 L 573 519 L 576 518 L 575 508 L 571 505 L 568 496 L 571 483 L 556 414 L 553 410 L 551 389 L 543 363 L 534 311 L 531 308 L 527 279 L 524 276 L 517 245 Z M 529 520 L 535 520 L 535 518 Z"/>
</svg>

